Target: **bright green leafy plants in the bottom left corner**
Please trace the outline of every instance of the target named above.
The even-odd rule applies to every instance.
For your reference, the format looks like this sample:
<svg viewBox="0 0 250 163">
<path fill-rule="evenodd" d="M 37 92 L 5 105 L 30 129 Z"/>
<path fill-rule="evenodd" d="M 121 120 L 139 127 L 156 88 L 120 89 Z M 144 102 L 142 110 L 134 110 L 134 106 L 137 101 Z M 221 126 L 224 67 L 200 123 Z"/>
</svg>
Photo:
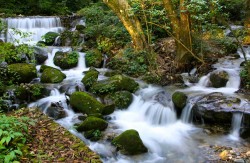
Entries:
<svg viewBox="0 0 250 163">
<path fill-rule="evenodd" d="M 27 117 L 0 115 L 0 162 L 17 162 L 23 155 L 30 124 Z"/>
</svg>

